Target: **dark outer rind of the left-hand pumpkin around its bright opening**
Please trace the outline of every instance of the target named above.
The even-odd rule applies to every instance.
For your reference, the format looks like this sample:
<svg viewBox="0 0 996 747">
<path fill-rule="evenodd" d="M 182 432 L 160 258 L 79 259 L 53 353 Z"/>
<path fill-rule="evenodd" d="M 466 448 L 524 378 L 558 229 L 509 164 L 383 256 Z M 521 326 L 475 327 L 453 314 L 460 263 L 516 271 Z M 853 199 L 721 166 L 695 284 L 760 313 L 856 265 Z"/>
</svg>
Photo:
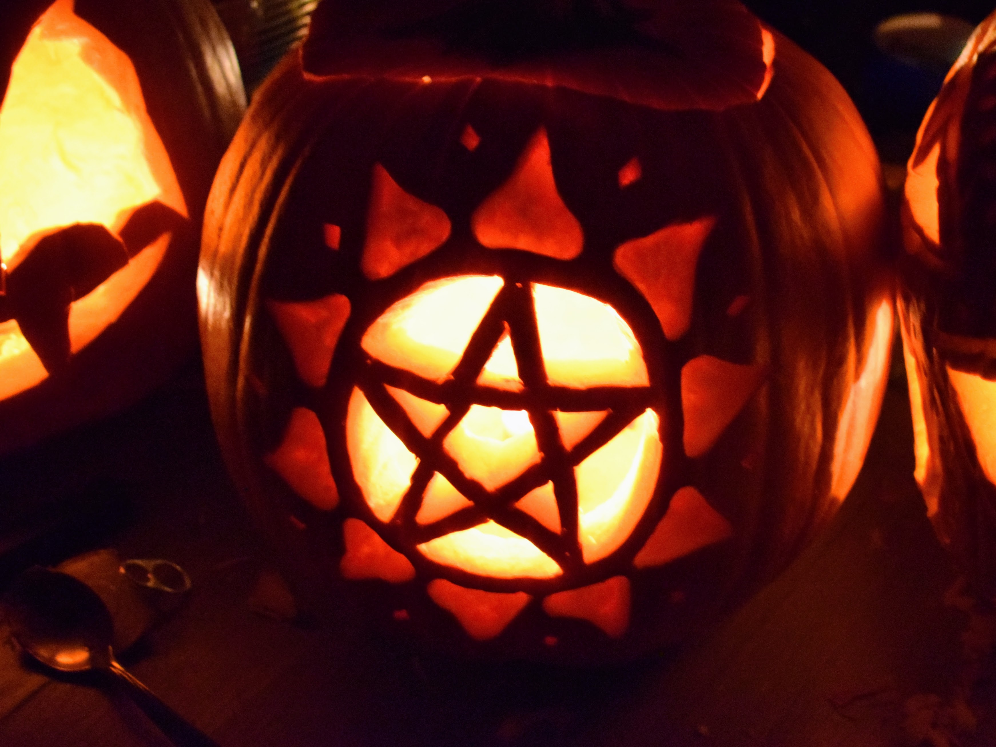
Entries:
<svg viewBox="0 0 996 747">
<path fill-rule="evenodd" d="M 4 88 L 31 25 L 51 4 L 17 4 L 10 25 L 5 11 Z M 173 230 L 154 275 L 114 324 L 65 370 L 0 401 L 0 452 L 121 409 L 165 380 L 193 349 L 198 227 L 215 164 L 245 108 L 238 64 L 208 2 L 77 0 L 75 13 L 134 66 L 189 221 Z"/>
</svg>

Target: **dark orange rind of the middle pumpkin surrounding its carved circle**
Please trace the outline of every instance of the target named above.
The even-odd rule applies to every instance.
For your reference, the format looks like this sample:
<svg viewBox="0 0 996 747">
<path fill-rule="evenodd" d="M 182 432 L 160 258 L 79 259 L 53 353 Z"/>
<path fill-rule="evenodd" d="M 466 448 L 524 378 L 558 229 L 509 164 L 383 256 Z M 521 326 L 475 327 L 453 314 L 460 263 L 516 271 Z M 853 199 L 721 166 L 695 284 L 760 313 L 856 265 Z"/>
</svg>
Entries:
<svg viewBox="0 0 996 747">
<path fill-rule="evenodd" d="M 321 30 L 321 18 L 316 20 Z M 299 590 L 319 608 L 356 584 L 344 581 L 338 569 L 344 553 L 350 557 L 343 522 L 361 520 L 416 570 L 410 582 L 365 582 L 361 596 L 385 623 L 478 653 L 631 656 L 688 634 L 742 599 L 783 568 L 834 513 L 856 474 L 833 474 L 838 424 L 872 340 L 887 341 L 891 329 L 890 282 L 878 254 L 877 158 L 833 78 L 791 42 L 751 23 L 758 59 L 766 38 L 778 50 L 773 76 L 760 68 L 754 93 L 761 97 L 752 103 L 720 106 L 708 96 L 702 101 L 711 103 L 700 107 L 655 106 L 654 97 L 634 103 L 635 95 L 599 89 L 598 76 L 586 77 L 584 86 L 548 85 L 492 75 L 479 61 L 472 75 L 454 64 L 448 78 L 438 75 L 441 68 L 426 80 L 381 75 L 365 67 L 369 60 L 359 61 L 354 74 L 348 60 L 321 59 L 321 37 L 285 59 L 259 90 L 208 206 L 198 291 L 201 337 L 229 468 Z M 433 64 L 442 65 L 438 59 Z M 560 70 L 558 65 L 554 58 L 551 66 Z M 580 65 L 571 76 L 585 77 L 585 70 Z M 619 74 L 617 89 L 624 89 L 625 65 Z M 494 242 L 475 233 L 479 206 L 527 167 L 541 132 L 554 188 L 581 228 L 580 253 L 537 251 L 529 247 L 544 245 L 515 239 L 497 241 L 504 248 L 494 249 Z M 377 169 L 440 209 L 451 232 L 440 232 L 440 248 L 372 277 L 363 258 Z M 549 192 L 549 186 L 531 188 Z M 686 253 L 694 268 L 685 273 L 694 279 L 693 300 L 687 315 L 668 312 L 665 318 L 678 321 L 665 337 L 654 291 L 625 277 L 625 268 L 638 262 L 623 258 L 621 270 L 614 255 L 625 242 L 670 225 L 703 230 L 683 239 L 699 242 Z M 518 248 L 508 248 L 509 242 Z M 661 415 L 664 466 L 646 509 L 649 518 L 619 550 L 576 576 L 567 574 L 567 581 L 481 578 L 426 563 L 390 522 L 364 507 L 352 483 L 341 430 L 349 372 L 356 366 L 357 354 L 349 351 L 359 348 L 391 303 L 423 283 L 491 273 L 518 273 L 609 303 L 642 347 L 651 406 Z M 350 298 L 352 316 L 328 380 L 309 387 L 267 305 L 313 303 L 331 294 Z M 710 358 L 732 368 L 713 366 Z M 887 355 L 871 360 L 871 396 L 855 431 L 859 462 L 887 368 Z M 682 370 L 692 362 L 698 362 L 689 369 L 696 380 L 731 375 L 743 393 L 731 395 L 730 414 L 720 407 L 716 432 L 696 436 L 698 445 L 686 454 Z M 699 373 L 713 369 L 719 373 L 711 378 Z M 514 396 L 514 389 L 502 396 Z M 316 510 L 263 464 L 298 406 L 318 413 L 329 439 L 341 494 L 331 512 Z M 706 402 L 706 409 L 711 406 Z M 411 431 L 411 438 L 419 437 L 425 434 Z M 637 571 L 633 559 L 671 496 L 686 487 L 680 505 L 690 513 L 670 526 L 689 528 L 687 554 L 674 559 L 666 548 L 653 547 L 638 556 Z M 671 562 L 644 563 L 648 558 Z M 617 589 L 622 582 L 614 582 L 611 595 L 595 591 L 620 578 L 625 594 Z M 530 599 L 516 596 L 521 594 Z M 606 604 L 624 599 L 628 606 L 631 600 L 631 615 L 575 617 L 576 605 L 610 598 Z M 543 601 L 549 599 L 556 602 Z M 452 612 L 462 610 L 460 600 L 491 612 L 460 622 Z"/>
</svg>

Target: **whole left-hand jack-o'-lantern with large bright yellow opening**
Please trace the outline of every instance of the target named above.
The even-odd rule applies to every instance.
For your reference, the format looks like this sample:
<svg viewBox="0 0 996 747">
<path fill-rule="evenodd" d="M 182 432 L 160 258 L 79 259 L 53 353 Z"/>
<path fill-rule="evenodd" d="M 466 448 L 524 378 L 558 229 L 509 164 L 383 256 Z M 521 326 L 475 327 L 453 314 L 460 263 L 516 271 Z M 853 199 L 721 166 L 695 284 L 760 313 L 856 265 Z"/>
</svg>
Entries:
<svg viewBox="0 0 996 747">
<path fill-rule="evenodd" d="M 3 451 L 189 354 L 202 206 L 244 94 L 206 1 L 26 2 L 0 21 Z"/>
</svg>

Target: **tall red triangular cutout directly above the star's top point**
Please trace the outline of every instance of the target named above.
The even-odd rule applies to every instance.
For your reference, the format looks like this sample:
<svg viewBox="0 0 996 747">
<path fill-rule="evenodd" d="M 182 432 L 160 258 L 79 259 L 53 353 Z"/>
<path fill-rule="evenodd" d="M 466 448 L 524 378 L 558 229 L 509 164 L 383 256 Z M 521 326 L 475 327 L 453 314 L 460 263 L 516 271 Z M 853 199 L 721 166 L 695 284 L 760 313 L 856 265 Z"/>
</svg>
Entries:
<svg viewBox="0 0 996 747">
<path fill-rule="evenodd" d="M 526 144 L 508 181 L 474 211 L 470 226 L 491 249 L 523 249 L 565 260 L 581 254 L 585 235 L 557 191 L 544 127 Z"/>
</svg>

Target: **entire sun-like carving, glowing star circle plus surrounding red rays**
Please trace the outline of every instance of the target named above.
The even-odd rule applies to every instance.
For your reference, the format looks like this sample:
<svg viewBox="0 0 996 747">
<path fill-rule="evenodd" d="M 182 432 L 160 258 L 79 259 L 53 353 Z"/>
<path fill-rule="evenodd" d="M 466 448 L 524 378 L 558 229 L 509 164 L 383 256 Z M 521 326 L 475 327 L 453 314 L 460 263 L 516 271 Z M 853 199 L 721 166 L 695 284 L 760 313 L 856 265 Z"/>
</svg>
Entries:
<svg viewBox="0 0 996 747">
<path fill-rule="evenodd" d="M 474 639 L 520 615 L 622 636 L 630 577 L 734 535 L 689 465 L 767 371 L 681 342 L 716 218 L 588 247 L 543 127 L 463 212 L 372 184 L 366 233 L 322 216 L 334 282 L 267 302 L 304 384 L 267 464 L 342 527 L 345 579 L 421 585 Z"/>
</svg>

